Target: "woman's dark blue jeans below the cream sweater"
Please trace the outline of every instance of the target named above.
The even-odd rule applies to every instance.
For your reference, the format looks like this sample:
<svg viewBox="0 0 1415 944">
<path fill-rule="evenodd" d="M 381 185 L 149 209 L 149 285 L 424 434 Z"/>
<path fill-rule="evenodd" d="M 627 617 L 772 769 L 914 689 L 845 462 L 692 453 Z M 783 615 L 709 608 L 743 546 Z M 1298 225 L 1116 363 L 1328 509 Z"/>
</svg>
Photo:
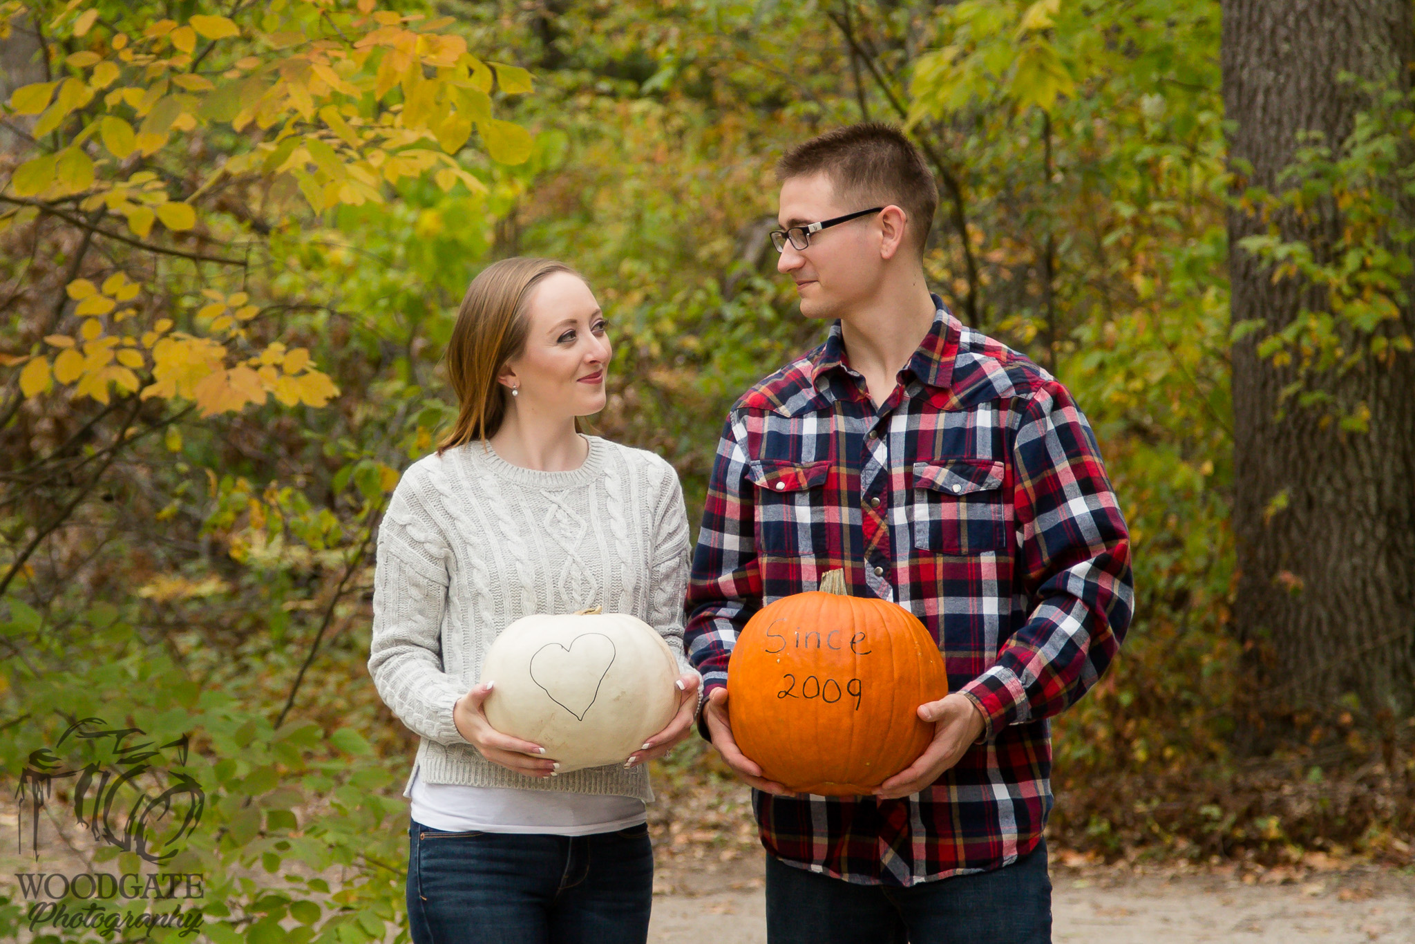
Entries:
<svg viewBox="0 0 1415 944">
<path fill-rule="evenodd" d="M 644 944 L 654 846 L 638 824 L 587 836 L 408 828 L 413 944 Z"/>
</svg>

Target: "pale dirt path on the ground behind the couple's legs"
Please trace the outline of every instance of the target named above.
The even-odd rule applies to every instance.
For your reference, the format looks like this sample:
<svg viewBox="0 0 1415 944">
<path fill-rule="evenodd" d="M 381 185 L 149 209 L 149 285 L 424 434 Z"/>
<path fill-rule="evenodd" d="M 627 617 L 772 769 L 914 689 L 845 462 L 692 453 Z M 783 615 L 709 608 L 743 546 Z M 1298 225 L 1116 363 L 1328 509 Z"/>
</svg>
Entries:
<svg viewBox="0 0 1415 944">
<path fill-rule="evenodd" d="M 760 865 L 654 897 L 652 944 L 766 944 Z M 1415 876 L 1361 866 L 1286 885 L 1223 872 L 1051 870 L 1056 944 L 1415 944 Z M 737 885 L 739 887 L 732 887 Z M 712 886 L 717 886 L 715 890 Z"/>
</svg>

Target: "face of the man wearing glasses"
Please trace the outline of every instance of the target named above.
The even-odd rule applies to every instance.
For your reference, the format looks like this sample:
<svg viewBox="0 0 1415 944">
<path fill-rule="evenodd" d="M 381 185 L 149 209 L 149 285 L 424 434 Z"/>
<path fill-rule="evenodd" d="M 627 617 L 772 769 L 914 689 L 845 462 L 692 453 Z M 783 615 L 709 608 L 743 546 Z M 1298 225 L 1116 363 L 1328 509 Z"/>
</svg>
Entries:
<svg viewBox="0 0 1415 944">
<path fill-rule="evenodd" d="M 791 177 L 781 184 L 781 209 L 777 222 L 782 229 L 833 219 L 872 204 L 846 205 L 835 195 L 824 173 Z M 884 276 L 880 258 L 879 217 L 860 217 L 811 234 L 811 245 L 797 249 L 787 241 L 777 262 L 797 283 L 801 314 L 808 318 L 833 320 L 843 311 L 867 301 Z"/>
</svg>

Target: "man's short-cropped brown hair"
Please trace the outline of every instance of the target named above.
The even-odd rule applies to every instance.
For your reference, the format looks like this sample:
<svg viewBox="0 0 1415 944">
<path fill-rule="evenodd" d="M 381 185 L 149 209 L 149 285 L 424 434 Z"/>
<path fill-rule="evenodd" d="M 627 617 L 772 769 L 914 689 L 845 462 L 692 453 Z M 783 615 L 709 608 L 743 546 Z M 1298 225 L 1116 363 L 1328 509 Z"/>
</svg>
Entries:
<svg viewBox="0 0 1415 944">
<path fill-rule="evenodd" d="M 904 208 L 914 246 L 924 255 L 938 208 L 938 185 L 924 156 L 903 130 L 884 122 L 836 127 L 797 144 L 777 161 L 777 183 L 825 173 L 842 200 L 860 209 L 886 202 Z"/>
</svg>

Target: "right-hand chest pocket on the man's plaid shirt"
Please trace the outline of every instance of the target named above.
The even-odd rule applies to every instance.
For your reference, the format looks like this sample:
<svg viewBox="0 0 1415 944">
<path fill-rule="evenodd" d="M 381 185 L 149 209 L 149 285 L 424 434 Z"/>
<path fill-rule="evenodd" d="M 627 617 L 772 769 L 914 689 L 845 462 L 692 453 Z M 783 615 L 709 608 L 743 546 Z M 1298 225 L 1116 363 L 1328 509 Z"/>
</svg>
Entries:
<svg viewBox="0 0 1415 944">
<path fill-rule="evenodd" d="M 935 459 L 914 463 L 914 546 L 971 555 L 1007 546 L 1002 461 Z"/>
</svg>

